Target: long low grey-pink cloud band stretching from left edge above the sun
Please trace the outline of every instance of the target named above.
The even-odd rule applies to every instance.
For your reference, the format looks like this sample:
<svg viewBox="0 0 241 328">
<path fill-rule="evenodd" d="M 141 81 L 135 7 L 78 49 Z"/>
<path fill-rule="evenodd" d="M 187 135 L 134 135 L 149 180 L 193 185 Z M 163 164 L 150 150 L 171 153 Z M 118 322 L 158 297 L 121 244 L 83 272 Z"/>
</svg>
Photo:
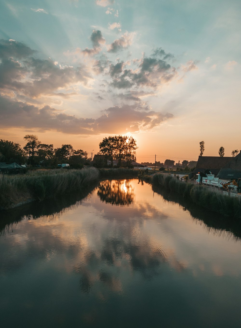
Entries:
<svg viewBox="0 0 241 328">
<path fill-rule="evenodd" d="M 50 106 L 39 108 L 0 96 L 0 126 L 5 128 L 22 127 L 71 134 L 124 133 L 153 129 L 172 117 L 170 113 L 147 111 L 139 105 L 123 105 L 106 109 L 97 119 L 77 118 Z"/>
</svg>

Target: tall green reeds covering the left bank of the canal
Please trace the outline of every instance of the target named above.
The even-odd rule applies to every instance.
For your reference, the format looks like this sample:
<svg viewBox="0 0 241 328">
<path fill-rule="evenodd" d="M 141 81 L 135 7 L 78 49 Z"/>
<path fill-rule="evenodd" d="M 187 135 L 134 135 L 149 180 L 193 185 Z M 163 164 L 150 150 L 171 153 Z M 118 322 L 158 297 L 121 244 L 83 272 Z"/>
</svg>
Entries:
<svg viewBox="0 0 241 328">
<path fill-rule="evenodd" d="M 44 200 L 87 187 L 99 177 L 96 168 L 82 170 L 37 170 L 25 175 L 0 175 L 0 209 L 28 198 Z"/>
</svg>

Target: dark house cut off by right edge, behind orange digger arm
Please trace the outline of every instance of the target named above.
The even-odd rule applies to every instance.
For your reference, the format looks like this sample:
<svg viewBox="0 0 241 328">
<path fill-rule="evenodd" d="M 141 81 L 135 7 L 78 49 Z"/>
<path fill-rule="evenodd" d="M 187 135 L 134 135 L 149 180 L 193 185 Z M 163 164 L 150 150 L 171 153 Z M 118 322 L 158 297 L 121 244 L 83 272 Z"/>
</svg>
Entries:
<svg viewBox="0 0 241 328">
<path fill-rule="evenodd" d="M 241 151 L 237 156 L 231 157 L 217 175 L 220 179 L 233 180 L 241 178 Z"/>
</svg>

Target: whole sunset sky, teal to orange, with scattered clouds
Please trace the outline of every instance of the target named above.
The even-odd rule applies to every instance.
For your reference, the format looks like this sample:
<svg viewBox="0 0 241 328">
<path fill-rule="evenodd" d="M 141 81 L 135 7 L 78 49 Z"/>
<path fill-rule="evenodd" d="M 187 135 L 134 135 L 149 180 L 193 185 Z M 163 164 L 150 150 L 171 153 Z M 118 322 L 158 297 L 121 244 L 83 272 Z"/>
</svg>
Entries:
<svg viewBox="0 0 241 328">
<path fill-rule="evenodd" d="M 132 135 L 137 161 L 241 149 L 239 0 L 7 0 L 0 138 L 99 151 Z M 163 156 L 163 157 L 162 157 Z"/>
</svg>

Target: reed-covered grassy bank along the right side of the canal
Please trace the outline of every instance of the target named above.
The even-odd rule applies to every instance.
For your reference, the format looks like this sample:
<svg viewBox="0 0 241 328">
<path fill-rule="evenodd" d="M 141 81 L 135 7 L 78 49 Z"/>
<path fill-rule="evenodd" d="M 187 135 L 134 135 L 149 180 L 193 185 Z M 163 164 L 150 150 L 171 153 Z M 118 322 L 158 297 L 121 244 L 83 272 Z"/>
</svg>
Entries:
<svg viewBox="0 0 241 328">
<path fill-rule="evenodd" d="M 177 192 L 183 197 L 189 198 L 195 204 L 211 211 L 225 216 L 241 218 L 240 197 L 231 197 L 218 189 L 197 185 L 188 181 L 180 181 L 169 174 L 155 174 L 151 182 L 153 185 L 162 186 Z"/>
</svg>

